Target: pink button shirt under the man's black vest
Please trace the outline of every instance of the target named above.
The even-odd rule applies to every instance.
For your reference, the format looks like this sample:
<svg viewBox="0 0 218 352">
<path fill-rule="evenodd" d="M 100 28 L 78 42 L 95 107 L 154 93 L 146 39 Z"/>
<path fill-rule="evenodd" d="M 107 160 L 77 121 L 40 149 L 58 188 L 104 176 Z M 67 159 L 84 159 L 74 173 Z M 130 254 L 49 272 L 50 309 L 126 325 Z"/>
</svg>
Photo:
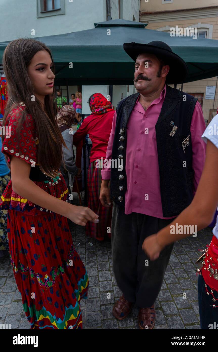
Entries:
<svg viewBox="0 0 218 352">
<path fill-rule="evenodd" d="M 166 94 L 166 85 L 145 111 L 137 100 L 127 122 L 125 214 L 132 212 L 163 217 L 160 197 L 159 165 L 155 125 Z M 140 97 L 140 95 L 139 95 Z M 112 146 L 117 113 L 114 113 L 112 130 L 108 141 L 106 159 L 112 158 Z M 146 133 L 148 128 L 149 133 Z M 197 189 L 205 161 L 206 146 L 201 136 L 205 130 L 202 107 L 196 103 L 191 121 L 192 168 L 194 170 L 194 193 Z M 173 137 L 172 137 L 173 138 Z M 110 169 L 101 171 L 103 180 L 111 178 Z"/>
</svg>

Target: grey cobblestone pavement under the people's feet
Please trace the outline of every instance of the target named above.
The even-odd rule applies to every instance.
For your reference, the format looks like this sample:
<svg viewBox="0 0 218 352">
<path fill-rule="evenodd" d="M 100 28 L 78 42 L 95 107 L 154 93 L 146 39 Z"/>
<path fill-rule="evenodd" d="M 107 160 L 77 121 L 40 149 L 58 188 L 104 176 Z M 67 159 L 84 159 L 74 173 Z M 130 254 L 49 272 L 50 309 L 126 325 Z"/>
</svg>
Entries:
<svg viewBox="0 0 218 352">
<path fill-rule="evenodd" d="M 84 228 L 71 223 L 73 243 L 86 266 L 90 280 L 88 300 L 81 300 L 83 328 L 138 329 L 138 308 L 117 321 L 112 307 L 120 295 L 112 268 L 111 243 L 87 237 Z M 155 329 L 199 329 L 196 259 L 199 249 L 206 248 L 212 238 L 211 228 L 199 231 L 174 244 L 164 282 L 155 303 Z M 110 293 L 110 295 L 108 295 Z M 183 294 L 186 293 L 186 298 Z M 108 298 L 108 297 L 111 298 Z M 21 295 L 16 288 L 12 266 L 8 258 L 0 261 L 0 323 L 12 329 L 29 329 Z"/>
</svg>

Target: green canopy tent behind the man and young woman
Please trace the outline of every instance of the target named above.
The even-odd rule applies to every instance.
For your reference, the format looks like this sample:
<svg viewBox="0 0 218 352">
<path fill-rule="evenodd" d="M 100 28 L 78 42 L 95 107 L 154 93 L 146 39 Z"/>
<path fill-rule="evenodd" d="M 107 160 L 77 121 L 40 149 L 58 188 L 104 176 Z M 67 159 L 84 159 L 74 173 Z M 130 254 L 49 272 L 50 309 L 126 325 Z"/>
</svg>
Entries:
<svg viewBox="0 0 218 352">
<path fill-rule="evenodd" d="M 146 29 L 144 23 L 121 19 L 94 26 L 85 31 L 35 38 L 52 50 L 55 84 L 133 84 L 134 62 L 124 51 L 123 43 L 146 44 L 152 40 L 167 43 L 187 63 L 189 75 L 184 83 L 218 76 L 218 40 L 171 37 L 170 33 Z M 8 43 L 0 43 L 0 62 Z"/>
</svg>

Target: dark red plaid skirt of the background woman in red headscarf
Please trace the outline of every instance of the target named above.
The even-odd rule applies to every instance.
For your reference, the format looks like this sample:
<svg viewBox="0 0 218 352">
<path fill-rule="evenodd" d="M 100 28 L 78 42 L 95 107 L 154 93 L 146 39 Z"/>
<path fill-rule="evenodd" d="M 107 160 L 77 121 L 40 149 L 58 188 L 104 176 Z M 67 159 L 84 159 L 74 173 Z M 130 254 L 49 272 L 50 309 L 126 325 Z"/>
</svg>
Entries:
<svg viewBox="0 0 218 352">
<path fill-rule="evenodd" d="M 86 224 L 86 234 L 91 237 L 103 241 L 105 237 L 111 238 L 111 218 L 112 206 L 110 208 L 103 207 L 99 200 L 101 189 L 101 169 L 95 168 L 95 161 L 90 163 L 88 169 L 88 207 L 99 215 L 99 223 L 88 221 Z"/>
</svg>

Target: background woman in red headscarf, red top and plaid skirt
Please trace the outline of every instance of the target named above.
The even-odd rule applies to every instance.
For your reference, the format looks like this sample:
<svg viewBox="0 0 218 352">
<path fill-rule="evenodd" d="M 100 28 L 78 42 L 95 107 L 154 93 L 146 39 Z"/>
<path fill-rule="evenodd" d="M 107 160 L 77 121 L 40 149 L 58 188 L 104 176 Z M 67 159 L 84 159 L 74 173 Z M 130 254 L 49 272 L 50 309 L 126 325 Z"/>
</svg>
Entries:
<svg viewBox="0 0 218 352">
<path fill-rule="evenodd" d="M 86 234 L 102 241 L 111 238 L 112 207 L 103 207 L 99 200 L 101 188 L 102 161 L 106 157 L 107 144 L 111 133 L 114 109 L 104 95 L 95 93 L 88 99 L 91 115 L 84 119 L 80 128 L 73 136 L 73 144 L 78 146 L 80 141 L 89 135 L 92 141 L 90 165 L 88 169 L 88 207 L 99 215 L 98 224 L 86 224 Z M 100 165 L 100 167 L 99 167 Z M 96 226 L 97 225 L 97 226 Z"/>
</svg>

